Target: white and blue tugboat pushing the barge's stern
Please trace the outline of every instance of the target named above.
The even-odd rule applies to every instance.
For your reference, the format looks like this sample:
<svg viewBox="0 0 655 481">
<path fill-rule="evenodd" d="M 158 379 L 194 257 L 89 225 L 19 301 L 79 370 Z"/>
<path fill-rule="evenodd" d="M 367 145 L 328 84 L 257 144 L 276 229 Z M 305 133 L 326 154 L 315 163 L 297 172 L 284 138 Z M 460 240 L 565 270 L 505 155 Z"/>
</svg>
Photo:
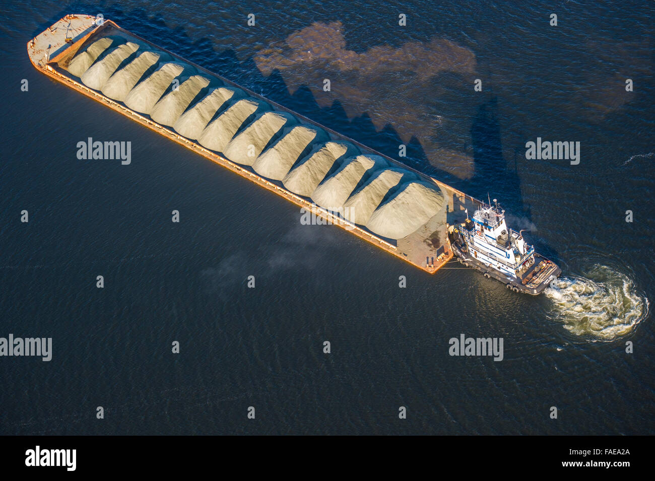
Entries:
<svg viewBox="0 0 655 481">
<path fill-rule="evenodd" d="M 534 252 L 521 232 L 508 228 L 505 211 L 495 205 L 482 205 L 472 219 L 449 226 L 453 253 L 464 266 L 472 267 L 487 279 L 504 283 L 515 293 L 541 294 L 562 270 L 546 257 Z"/>
</svg>

